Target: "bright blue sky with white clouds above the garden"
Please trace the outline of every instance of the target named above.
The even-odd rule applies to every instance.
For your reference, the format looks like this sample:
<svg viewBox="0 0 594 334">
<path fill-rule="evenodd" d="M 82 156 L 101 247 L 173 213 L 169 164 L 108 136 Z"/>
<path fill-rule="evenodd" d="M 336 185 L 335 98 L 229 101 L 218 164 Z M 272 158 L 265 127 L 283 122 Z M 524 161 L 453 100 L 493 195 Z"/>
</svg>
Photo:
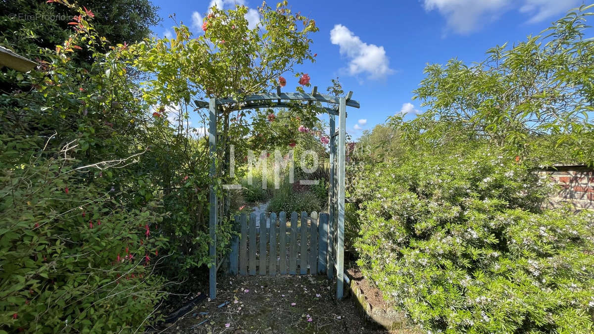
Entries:
<svg viewBox="0 0 594 334">
<path fill-rule="evenodd" d="M 178 21 L 201 33 L 201 17 L 215 2 L 230 8 L 235 3 L 249 8 L 255 0 L 153 0 L 163 22 L 153 27 L 157 36 L 170 34 Z M 276 1 L 267 2 L 274 7 Z M 297 68 L 311 76 L 312 85 L 325 92 L 332 78 L 340 77 L 345 91 L 361 109 L 349 108 L 347 132 L 359 137 L 363 130 L 406 112 L 412 118 L 422 112 L 412 100 L 426 64 L 444 64 L 451 58 L 466 63 L 482 61 L 485 51 L 505 42 L 515 43 L 538 34 L 582 0 L 408 0 L 408 1 L 289 1 L 293 12 L 313 18 L 320 31 L 313 34 L 317 62 Z M 586 1 L 586 4 L 591 3 Z M 257 14 L 251 11 L 251 14 Z M 257 15 L 248 18 L 257 20 Z M 297 85 L 287 77 L 287 87 Z"/>
</svg>

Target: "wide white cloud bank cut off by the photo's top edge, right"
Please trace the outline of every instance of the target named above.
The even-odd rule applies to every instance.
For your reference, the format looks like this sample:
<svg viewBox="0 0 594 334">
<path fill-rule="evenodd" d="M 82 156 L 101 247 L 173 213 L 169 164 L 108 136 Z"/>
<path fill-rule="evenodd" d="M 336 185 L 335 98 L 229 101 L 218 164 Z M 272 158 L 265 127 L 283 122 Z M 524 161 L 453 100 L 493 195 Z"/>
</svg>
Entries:
<svg viewBox="0 0 594 334">
<path fill-rule="evenodd" d="M 536 23 L 579 3 L 580 0 L 423 0 L 425 11 L 439 11 L 448 28 L 459 34 L 473 33 L 511 8 L 530 15 L 527 23 Z"/>
</svg>

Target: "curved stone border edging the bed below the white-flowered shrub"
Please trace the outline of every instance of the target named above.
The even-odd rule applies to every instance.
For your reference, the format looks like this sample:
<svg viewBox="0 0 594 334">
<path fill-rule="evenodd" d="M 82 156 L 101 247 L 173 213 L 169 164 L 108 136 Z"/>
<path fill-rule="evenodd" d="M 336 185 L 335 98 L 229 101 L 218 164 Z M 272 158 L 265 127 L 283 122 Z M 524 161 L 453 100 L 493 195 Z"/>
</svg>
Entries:
<svg viewBox="0 0 594 334">
<path fill-rule="evenodd" d="M 347 291 L 356 298 L 357 308 L 363 314 L 365 320 L 387 330 L 403 329 L 406 327 L 404 314 L 393 308 L 384 309 L 369 304 L 362 289 L 357 286 L 356 281 L 350 275 L 348 276 L 350 284 L 345 286 L 347 287 Z"/>
</svg>

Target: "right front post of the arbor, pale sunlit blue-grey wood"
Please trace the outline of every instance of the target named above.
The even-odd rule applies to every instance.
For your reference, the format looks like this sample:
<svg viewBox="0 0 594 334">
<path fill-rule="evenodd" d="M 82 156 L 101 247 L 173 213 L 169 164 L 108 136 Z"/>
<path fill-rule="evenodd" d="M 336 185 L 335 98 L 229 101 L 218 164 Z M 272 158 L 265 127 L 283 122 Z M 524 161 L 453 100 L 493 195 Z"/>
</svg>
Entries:
<svg viewBox="0 0 594 334">
<path fill-rule="evenodd" d="M 345 157 L 346 157 L 346 97 L 340 97 L 338 137 L 338 203 L 336 240 L 336 299 L 343 297 L 345 275 Z"/>
</svg>

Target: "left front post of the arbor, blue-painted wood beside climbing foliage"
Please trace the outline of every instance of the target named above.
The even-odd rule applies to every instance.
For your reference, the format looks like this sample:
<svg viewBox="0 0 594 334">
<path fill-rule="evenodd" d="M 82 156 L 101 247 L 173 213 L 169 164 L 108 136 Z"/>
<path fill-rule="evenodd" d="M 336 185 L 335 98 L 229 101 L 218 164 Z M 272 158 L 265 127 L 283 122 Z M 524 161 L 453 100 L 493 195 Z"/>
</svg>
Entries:
<svg viewBox="0 0 594 334">
<path fill-rule="evenodd" d="M 211 97 L 208 114 L 208 155 L 210 157 L 210 212 L 208 222 L 208 232 L 210 234 L 210 244 L 208 245 L 208 256 L 210 256 L 210 268 L 208 269 L 208 295 L 211 300 L 217 297 L 217 194 L 214 188 L 216 184 L 216 153 L 217 153 L 217 110 L 216 100 Z"/>
</svg>

